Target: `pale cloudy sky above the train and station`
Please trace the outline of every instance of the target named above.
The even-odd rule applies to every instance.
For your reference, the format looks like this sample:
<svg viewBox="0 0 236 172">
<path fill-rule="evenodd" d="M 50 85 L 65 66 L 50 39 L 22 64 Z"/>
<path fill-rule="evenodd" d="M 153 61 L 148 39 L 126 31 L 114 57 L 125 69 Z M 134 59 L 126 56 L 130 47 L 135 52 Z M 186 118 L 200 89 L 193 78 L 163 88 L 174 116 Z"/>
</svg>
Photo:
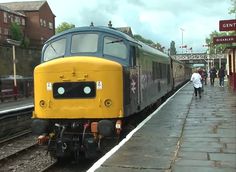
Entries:
<svg viewBox="0 0 236 172">
<path fill-rule="evenodd" d="M 14 2 L 19 0 L 0 0 Z M 236 0 L 234 0 L 236 1 Z M 132 28 L 134 34 L 158 42 L 168 49 L 176 43 L 193 52 L 204 52 L 205 38 L 219 31 L 219 20 L 235 19 L 228 14 L 230 0 L 47 0 L 56 15 L 56 26 L 62 22 L 75 26 L 107 25 Z M 183 32 L 181 31 L 183 29 Z"/>
</svg>

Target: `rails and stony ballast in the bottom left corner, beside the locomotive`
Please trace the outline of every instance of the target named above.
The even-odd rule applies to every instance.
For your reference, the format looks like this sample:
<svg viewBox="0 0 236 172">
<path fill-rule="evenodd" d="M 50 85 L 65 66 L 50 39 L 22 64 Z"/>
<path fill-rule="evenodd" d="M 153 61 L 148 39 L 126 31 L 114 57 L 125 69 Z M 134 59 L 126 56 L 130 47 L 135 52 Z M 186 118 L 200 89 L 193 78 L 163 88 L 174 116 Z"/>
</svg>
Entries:
<svg viewBox="0 0 236 172">
<path fill-rule="evenodd" d="M 31 134 L 15 136 L 0 144 L 0 171 L 41 172 L 55 162 Z"/>
</svg>

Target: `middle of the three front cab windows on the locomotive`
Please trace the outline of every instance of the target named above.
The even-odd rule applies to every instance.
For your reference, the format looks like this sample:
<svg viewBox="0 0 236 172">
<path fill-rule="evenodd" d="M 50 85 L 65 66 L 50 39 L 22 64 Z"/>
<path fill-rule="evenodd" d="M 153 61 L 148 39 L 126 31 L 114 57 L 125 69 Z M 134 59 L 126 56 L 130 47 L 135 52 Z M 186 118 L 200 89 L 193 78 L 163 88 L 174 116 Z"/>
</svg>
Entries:
<svg viewBox="0 0 236 172">
<path fill-rule="evenodd" d="M 96 52 L 97 34 L 77 34 L 72 36 L 71 53 Z"/>
</svg>

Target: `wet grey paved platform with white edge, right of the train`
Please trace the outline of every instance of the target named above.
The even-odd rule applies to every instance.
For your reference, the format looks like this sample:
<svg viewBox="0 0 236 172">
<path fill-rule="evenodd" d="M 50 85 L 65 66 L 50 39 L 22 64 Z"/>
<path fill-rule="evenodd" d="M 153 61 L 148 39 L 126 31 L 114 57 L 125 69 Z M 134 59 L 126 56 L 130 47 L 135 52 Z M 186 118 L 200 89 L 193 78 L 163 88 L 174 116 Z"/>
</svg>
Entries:
<svg viewBox="0 0 236 172">
<path fill-rule="evenodd" d="M 217 82 L 200 99 L 187 83 L 92 171 L 235 172 L 236 92 Z"/>
</svg>

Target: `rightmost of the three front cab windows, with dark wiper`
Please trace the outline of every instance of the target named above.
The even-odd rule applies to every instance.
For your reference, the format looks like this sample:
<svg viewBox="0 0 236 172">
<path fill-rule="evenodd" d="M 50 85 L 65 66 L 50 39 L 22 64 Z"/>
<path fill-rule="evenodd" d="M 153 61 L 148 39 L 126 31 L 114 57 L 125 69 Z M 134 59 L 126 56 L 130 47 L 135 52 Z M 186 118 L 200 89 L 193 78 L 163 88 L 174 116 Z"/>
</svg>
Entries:
<svg viewBox="0 0 236 172">
<path fill-rule="evenodd" d="M 106 55 L 111 55 L 122 59 L 127 58 L 127 47 L 122 39 L 105 37 L 103 47 L 103 53 Z"/>
</svg>

